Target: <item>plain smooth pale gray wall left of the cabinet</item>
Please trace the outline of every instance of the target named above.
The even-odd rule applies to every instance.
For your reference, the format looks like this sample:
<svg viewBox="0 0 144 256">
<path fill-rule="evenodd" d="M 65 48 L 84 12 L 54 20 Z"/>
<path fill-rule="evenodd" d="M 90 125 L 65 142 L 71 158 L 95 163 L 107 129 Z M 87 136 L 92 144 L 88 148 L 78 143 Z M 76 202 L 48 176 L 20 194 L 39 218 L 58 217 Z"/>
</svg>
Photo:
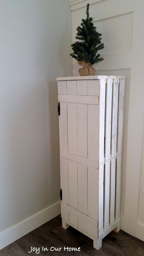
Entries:
<svg viewBox="0 0 144 256">
<path fill-rule="evenodd" d="M 72 75 L 67 0 L 0 1 L 0 232 L 59 200 L 56 77 Z"/>
</svg>

